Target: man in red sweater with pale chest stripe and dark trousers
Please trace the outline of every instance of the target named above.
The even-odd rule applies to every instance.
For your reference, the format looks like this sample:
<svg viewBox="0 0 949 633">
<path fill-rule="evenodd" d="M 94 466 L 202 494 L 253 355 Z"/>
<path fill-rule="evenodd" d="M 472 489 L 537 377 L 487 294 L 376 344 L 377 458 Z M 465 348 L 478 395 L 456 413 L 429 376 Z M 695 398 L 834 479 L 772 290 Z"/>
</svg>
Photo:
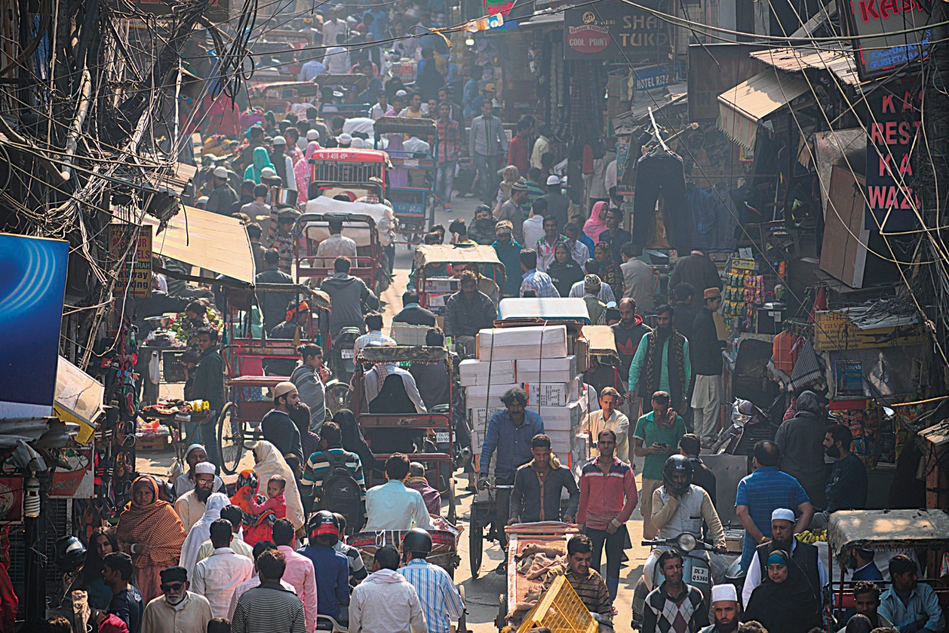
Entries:
<svg viewBox="0 0 949 633">
<path fill-rule="evenodd" d="M 606 549 L 606 588 L 610 600 L 616 600 L 620 586 L 620 564 L 626 544 L 626 521 L 639 501 L 632 467 L 621 461 L 616 450 L 616 433 L 604 429 L 597 436 L 600 455 L 590 459 L 580 473 L 580 507 L 577 525 L 593 541 L 590 568 L 600 570 L 600 557 Z"/>
</svg>

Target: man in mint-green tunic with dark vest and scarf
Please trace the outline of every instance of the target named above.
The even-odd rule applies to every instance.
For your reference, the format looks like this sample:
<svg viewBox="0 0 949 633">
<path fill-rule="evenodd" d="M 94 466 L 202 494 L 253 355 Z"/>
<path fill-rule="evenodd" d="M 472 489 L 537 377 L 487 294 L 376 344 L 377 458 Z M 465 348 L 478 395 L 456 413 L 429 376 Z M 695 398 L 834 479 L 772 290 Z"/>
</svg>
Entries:
<svg viewBox="0 0 949 633">
<path fill-rule="evenodd" d="M 657 328 L 642 335 L 636 355 L 629 364 L 629 391 L 642 398 L 643 413 L 646 406 L 651 407 L 648 396 L 657 391 L 669 394 L 672 407 L 679 415 L 684 415 L 688 407 L 686 397 L 692 363 L 689 342 L 672 326 L 675 313 L 676 310 L 669 305 L 656 308 Z"/>
</svg>

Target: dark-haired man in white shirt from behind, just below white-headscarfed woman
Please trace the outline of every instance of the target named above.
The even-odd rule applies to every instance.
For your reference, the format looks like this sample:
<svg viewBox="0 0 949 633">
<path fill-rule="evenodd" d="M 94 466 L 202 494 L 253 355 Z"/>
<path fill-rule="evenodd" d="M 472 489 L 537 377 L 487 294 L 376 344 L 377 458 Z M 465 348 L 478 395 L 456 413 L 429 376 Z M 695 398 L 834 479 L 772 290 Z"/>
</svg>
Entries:
<svg viewBox="0 0 949 633">
<path fill-rule="evenodd" d="M 253 561 L 231 549 L 233 529 L 227 519 L 211 524 L 211 543 L 214 551 L 195 566 L 195 593 L 211 603 L 215 618 L 223 618 L 231 605 L 234 588 L 248 580 L 253 573 Z"/>
</svg>

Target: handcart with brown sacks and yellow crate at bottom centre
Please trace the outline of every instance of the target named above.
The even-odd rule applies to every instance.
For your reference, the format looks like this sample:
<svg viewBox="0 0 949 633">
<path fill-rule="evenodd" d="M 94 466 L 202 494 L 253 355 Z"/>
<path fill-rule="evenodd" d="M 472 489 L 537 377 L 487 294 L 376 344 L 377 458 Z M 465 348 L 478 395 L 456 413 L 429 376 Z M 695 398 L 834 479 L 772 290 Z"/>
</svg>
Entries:
<svg viewBox="0 0 949 633">
<path fill-rule="evenodd" d="M 596 631 L 597 623 L 562 575 L 547 592 L 543 592 L 547 576 L 529 578 L 525 570 L 518 570 L 534 549 L 541 549 L 542 552 L 554 549 L 562 551 L 566 570 L 567 542 L 579 534 L 580 529 L 567 523 L 544 521 L 508 526 L 505 531 L 508 533 L 507 587 L 501 596 L 497 620 L 494 622 L 498 630 L 510 625 L 518 632 L 528 631 L 534 626 L 549 626 L 556 631 Z M 530 610 L 526 609 L 525 603 L 532 600 L 537 601 L 536 605 Z M 563 608 L 551 608 L 554 602 Z"/>
</svg>

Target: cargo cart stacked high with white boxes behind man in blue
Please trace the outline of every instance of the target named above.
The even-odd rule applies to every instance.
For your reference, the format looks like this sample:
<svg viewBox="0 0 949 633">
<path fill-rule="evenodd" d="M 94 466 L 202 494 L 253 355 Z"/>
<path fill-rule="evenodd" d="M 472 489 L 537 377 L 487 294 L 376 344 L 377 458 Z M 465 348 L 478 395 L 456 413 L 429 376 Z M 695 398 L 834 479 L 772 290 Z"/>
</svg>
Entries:
<svg viewBox="0 0 949 633">
<path fill-rule="evenodd" d="M 556 307 L 559 316 L 555 321 L 530 316 L 552 315 L 555 308 L 543 304 L 558 301 L 579 305 Z M 477 337 L 477 359 L 462 361 L 458 370 L 478 466 L 488 423 L 494 414 L 504 411 L 500 399 L 505 392 L 517 387 L 528 395 L 528 410 L 544 420 L 551 451 L 576 474 L 588 454 L 583 429 L 588 402 L 582 378 L 589 364 L 589 344 L 583 335 L 586 304 L 579 299 L 504 299 L 499 312 L 509 319 L 482 329 Z M 494 465 L 492 458 L 489 485 L 472 501 L 469 555 L 474 577 L 481 568 L 485 530 L 491 539 L 503 529 L 495 519 L 495 491 L 502 488 L 494 479 Z"/>
</svg>

